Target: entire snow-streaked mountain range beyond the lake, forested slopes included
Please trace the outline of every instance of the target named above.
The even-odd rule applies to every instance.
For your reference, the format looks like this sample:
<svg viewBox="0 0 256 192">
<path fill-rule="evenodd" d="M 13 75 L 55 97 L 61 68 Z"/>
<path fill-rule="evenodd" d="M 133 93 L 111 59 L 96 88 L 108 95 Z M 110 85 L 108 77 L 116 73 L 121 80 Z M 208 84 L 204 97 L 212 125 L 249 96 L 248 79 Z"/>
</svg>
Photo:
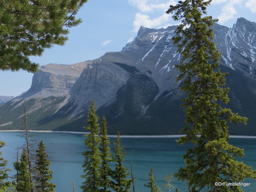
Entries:
<svg viewBox="0 0 256 192">
<path fill-rule="evenodd" d="M 172 41 L 175 29 L 142 26 L 120 52 L 73 65 L 42 66 L 27 92 L 0 105 L 0 128 L 20 128 L 26 99 L 30 129 L 83 131 L 94 99 L 110 134 L 178 134 L 185 124 L 179 106 L 182 82 L 175 84 L 175 64 L 182 57 Z M 239 18 L 233 28 L 215 24 L 213 29 L 220 68 L 229 73 L 230 103 L 225 107 L 249 118 L 246 126 L 230 125 L 230 134 L 256 135 L 256 23 Z"/>
</svg>

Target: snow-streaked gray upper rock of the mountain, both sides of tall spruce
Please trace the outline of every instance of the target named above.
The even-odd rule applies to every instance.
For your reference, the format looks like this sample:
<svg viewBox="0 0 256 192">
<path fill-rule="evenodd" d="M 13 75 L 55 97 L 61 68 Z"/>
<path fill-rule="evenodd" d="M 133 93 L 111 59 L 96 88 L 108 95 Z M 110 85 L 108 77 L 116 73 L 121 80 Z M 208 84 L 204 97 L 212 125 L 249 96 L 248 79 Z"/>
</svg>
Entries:
<svg viewBox="0 0 256 192">
<path fill-rule="evenodd" d="M 121 52 L 103 55 L 105 61 L 121 62 L 149 73 L 157 82 L 160 93 L 177 87 L 178 74 L 175 64 L 179 64 L 181 55 L 173 44 L 176 26 L 166 29 L 148 29 L 141 27 L 137 37 L 128 43 Z M 255 78 L 256 65 L 256 23 L 239 18 L 233 28 L 215 24 L 215 43 L 221 53 L 220 63 L 244 75 Z"/>
</svg>

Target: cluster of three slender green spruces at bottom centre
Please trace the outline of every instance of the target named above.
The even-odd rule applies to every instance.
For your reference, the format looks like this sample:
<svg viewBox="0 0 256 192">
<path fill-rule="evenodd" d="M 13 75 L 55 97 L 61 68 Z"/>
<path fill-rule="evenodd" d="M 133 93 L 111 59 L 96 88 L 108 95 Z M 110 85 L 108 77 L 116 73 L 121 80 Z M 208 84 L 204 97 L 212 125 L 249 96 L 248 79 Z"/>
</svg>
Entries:
<svg viewBox="0 0 256 192">
<path fill-rule="evenodd" d="M 133 179 L 126 179 L 128 168 L 122 165 L 125 157 L 124 147 L 121 147 L 120 134 L 117 134 L 115 155 L 110 152 L 110 141 L 107 136 L 107 122 L 105 117 L 102 120 L 102 128 L 100 129 L 99 116 L 96 114 L 94 101 L 89 108 L 87 127 L 90 134 L 85 135 L 84 144 L 88 150 L 83 153 L 85 156 L 83 168 L 84 175 L 81 175 L 85 181 L 82 183 L 81 189 L 84 192 L 110 192 L 112 188 L 116 192 L 129 192 Z M 101 135 L 100 135 L 101 134 Z M 116 162 L 115 170 L 111 170 L 109 163 Z M 112 180 L 111 180 L 112 177 Z"/>
</svg>

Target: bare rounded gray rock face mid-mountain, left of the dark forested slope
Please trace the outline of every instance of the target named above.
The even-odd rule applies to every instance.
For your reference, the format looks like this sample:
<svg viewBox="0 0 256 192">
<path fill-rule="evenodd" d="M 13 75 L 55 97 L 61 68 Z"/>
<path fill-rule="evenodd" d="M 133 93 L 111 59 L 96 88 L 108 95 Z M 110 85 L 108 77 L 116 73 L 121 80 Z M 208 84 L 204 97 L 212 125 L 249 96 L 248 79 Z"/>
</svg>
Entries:
<svg viewBox="0 0 256 192">
<path fill-rule="evenodd" d="M 128 74 L 113 63 L 93 63 L 84 68 L 79 79 L 70 90 L 73 116 L 84 115 L 85 108 L 95 101 L 96 107 L 109 105 L 116 92 L 128 80 Z"/>
</svg>

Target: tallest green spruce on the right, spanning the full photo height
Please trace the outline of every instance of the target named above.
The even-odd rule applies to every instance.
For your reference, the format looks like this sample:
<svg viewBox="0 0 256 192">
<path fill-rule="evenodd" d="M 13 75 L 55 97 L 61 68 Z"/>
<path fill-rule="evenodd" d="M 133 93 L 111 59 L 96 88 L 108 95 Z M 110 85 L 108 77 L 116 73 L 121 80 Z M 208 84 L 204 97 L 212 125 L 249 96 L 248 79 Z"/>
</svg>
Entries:
<svg viewBox="0 0 256 192">
<path fill-rule="evenodd" d="M 210 3 L 211 0 L 180 0 L 166 12 L 181 22 L 172 39 L 183 55 L 177 65 L 177 81 L 184 80 L 181 89 L 188 93 L 182 105 L 188 126 L 181 130 L 186 136 L 178 143 L 195 145 L 187 149 L 183 156 L 185 167 L 175 176 L 187 182 L 193 192 L 242 191 L 240 186 L 215 186 L 215 182 L 256 178 L 256 172 L 235 159 L 243 157 L 244 150 L 229 143 L 227 122 L 246 124 L 247 118 L 222 107 L 229 102 L 229 89 L 225 87 L 227 73 L 216 70 L 220 53 L 212 41 L 211 26 L 217 19 L 206 15 Z"/>
</svg>

